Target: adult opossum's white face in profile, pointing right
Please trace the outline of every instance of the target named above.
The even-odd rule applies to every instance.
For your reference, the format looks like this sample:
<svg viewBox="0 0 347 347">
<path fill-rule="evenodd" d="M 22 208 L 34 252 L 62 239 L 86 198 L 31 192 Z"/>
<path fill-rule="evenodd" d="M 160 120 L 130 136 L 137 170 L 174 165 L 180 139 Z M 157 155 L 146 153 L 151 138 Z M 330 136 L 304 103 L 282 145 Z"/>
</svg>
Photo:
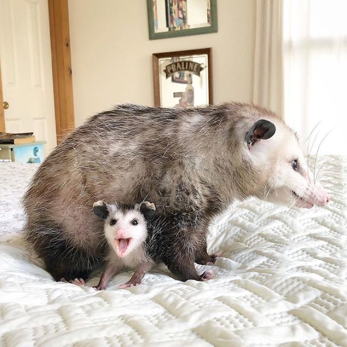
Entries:
<svg viewBox="0 0 347 347">
<path fill-rule="evenodd" d="M 271 119 L 271 122 L 276 127 L 272 129 L 274 134 L 268 139 L 254 137 L 255 141 L 249 146 L 250 156 L 259 170 L 266 171 L 263 198 L 303 208 L 326 205 L 330 198 L 315 182 L 295 134 L 280 120 Z M 261 135 L 261 131 L 259 133 Z"/>
</svg>

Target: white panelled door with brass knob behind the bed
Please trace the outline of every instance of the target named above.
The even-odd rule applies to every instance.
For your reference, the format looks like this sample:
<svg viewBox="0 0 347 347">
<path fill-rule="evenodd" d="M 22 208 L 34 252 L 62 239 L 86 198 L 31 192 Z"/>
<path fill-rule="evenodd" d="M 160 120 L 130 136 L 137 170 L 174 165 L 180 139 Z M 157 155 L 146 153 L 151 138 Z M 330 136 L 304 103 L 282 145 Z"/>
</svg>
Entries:
<svg viewBox="0 0 347 347">
<path fill-rule="evenodd" d="M 0 0 L 0 62 L 6 132 L 57 145 L 48 0 Z"/>
</svg>

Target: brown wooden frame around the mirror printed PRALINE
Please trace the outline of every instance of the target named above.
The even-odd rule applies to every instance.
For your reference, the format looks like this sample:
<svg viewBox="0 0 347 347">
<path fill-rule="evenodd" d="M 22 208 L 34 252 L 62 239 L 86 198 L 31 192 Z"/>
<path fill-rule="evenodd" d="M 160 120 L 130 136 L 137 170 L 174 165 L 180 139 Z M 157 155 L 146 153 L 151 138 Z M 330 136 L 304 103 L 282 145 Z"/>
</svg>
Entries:
<svg viewBox="0 0 347 347">
<path fill-rule="evenodd" d="M 179 58 L 194 55 L 207 55 L 208 60 L 208 104 L 213 104 L 213 70 L 212 70 L 212 48 L 202 48 L 197 50 L 155 53 L 152 55 L 153 63 L 153 86 L 154 86 L 154 105 L 161 105 L 160 78 L 161 71 L 159 63 L 161 58 Z"/>
</svg>

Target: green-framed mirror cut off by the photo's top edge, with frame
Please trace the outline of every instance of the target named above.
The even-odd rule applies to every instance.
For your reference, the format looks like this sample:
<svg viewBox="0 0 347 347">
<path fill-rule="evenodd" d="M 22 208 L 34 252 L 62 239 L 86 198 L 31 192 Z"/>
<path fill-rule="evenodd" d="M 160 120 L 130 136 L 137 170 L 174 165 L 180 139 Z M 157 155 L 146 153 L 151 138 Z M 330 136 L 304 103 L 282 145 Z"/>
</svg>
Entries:
<svg viewBox="0 0 347 347">
<path fill-rule="evenodd" d="M 147 0 L 150 40 L 216 33 L 217 0 Z"/>
</svg>

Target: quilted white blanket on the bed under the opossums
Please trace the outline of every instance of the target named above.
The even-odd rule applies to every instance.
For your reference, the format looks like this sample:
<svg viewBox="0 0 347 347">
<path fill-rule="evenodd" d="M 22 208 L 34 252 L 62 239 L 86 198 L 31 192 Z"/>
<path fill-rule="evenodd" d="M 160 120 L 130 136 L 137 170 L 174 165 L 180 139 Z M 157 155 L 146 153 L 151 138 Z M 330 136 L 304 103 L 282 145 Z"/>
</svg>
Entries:
<svg viewBox="0 0 347 347">
<path fill-rule="evenodd" d="M 215 279 L 181 283 L 162 267 L 105 291 L 91 288 L 99 273 L 54 282 L 28 251 L 19 201 L 37 166 L 0 164 L 0 346 L 347 346 L 347 160 L 331 159 L 326 207 L 251 199 L 216 221 Z"/>
</svg>

